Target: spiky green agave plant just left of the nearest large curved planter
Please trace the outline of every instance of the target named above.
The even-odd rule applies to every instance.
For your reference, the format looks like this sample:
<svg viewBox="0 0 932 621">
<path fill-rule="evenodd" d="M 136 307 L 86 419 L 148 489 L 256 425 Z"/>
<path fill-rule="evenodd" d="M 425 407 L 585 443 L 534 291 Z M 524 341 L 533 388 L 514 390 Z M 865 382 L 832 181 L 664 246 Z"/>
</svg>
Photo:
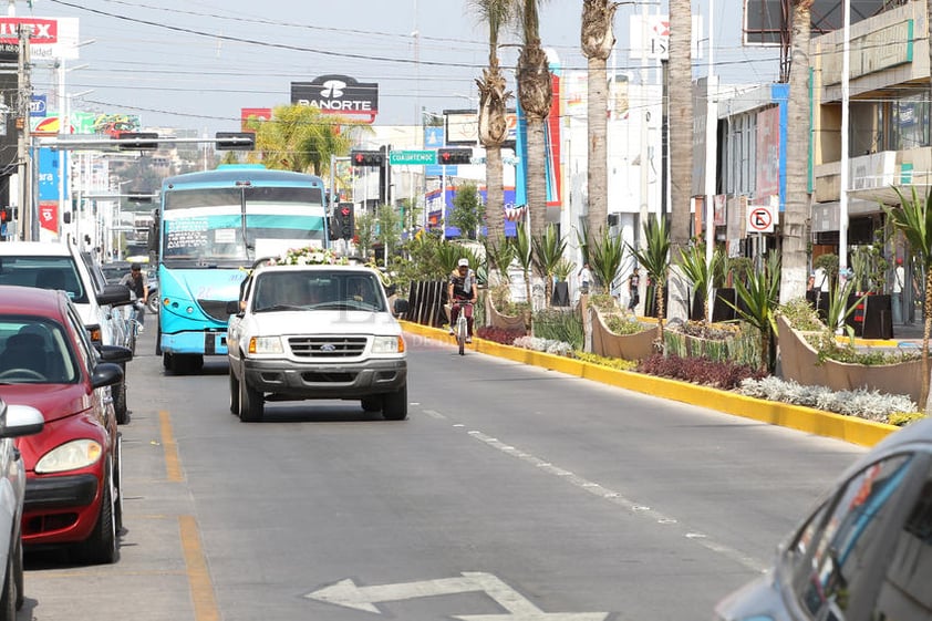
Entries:
<svg viewBox="0 0 932 621">
<path fill-rule="evenodd" d="M 747 282 L 735 280 L 735 292 L 742 304 L 725 303 L 747 323 L 760 332 L 760 369 L 770 369 L 770 342 L 777 330 L 776 310 L 779 306 L 780 258 L 773 252 L 759 272 L 749 272 Z"/>
</svg>

